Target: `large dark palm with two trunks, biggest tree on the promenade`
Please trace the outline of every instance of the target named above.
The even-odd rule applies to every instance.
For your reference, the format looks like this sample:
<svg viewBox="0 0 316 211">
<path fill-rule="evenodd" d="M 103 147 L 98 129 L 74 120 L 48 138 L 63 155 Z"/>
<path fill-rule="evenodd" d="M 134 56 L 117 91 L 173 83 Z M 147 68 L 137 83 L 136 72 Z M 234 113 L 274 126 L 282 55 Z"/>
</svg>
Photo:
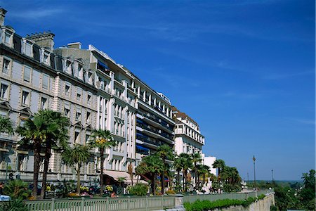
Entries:
<svg viewBox="0 0 316 211">
<path fill-rule="evenodd" d="M 18 127 L 16 132 L 22 136 L 20 144 L 22 146 L 32 146 L 34 151 L 34 189 L 33 196 L 37 196 L 37 184 L 39 177 L 40 152 L 45 149 L 44 172 L 41 188 L 41 198 L 44 198 L 46 191 L 46 178 L 48 172 L 49 158 L 51 150 L 62 150 L 67 148 L 67 133 L 70 121 L 61 113 L 53 110 L 40 110 L 34 114 L 33 118 L 26 120 L 22 127 Z"/>
</svg>

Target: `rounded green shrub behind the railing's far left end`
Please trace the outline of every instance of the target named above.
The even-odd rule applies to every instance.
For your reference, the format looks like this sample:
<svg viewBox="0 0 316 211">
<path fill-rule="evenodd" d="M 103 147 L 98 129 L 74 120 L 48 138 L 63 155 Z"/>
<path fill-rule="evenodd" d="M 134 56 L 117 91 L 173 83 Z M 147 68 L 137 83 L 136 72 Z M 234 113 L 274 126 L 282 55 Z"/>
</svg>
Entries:
<svg viewBox="0 0 316 211">
<path fill-rule="evenodd" d="M 31 190 L 27 188 L 26 182 L 15 179 L 4 186 L 4 194 L 10 196 L 11 199 L 24 200 L 31 195 Z"/>
</svg>

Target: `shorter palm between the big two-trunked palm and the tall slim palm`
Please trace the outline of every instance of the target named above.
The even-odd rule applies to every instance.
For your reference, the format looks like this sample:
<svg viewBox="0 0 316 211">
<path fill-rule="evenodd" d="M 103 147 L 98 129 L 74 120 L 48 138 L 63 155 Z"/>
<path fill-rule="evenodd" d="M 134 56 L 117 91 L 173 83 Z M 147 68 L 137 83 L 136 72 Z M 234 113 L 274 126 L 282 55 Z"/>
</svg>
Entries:
<svg viewBox="0 0 316 211">
<path fill-rule="evenodd" d="M 77 172 L 77 193 L 80 194 L 80 169 L 91 158 L 88 146 L 75 144 L 73 148 L 67 149 L 62 153 L 62 162 L 67 166 L 76 166 Z"/>
</svg>

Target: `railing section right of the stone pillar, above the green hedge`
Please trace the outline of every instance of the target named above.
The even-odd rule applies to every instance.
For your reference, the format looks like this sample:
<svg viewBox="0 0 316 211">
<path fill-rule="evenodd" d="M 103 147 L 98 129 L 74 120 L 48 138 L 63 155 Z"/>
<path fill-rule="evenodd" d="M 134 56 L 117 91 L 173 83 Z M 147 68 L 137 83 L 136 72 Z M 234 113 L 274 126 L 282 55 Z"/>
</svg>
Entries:
<svg viewBox="0 0 316 211">
<path fill-rule="evenodd" d="M 263 190 L 263 191 L 251 191 L 246 193 L 223 193 L 223 194 L 203 194 L 203 195 L 190 195 L 183 196 L 183 202 L 194 203 L 196 200 L 219 200 L 219 199 L 237 199 L 244 200 L 249 197 L 260 196 L 261 194 L 269 195 L 273 193 L 273 190 Z"/>
</svg>

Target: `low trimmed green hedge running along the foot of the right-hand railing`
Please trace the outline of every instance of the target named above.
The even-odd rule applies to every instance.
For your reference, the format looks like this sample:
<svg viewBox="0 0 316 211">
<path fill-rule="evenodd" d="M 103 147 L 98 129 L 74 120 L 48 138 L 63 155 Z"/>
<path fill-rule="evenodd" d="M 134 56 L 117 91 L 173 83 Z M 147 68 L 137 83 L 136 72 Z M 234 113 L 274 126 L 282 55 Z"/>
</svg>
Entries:
<svg viewBox="0 0 316 211">
<path fill-rule="evenodd" d="M 258 196 L 258 200 L 265 198 L 265 195 Z M 204 211 L 215 210 L 216 208 L 226 208 L 230 206 L 243 206 L 249 207 L 257 199 L 249 197 L 246 200 L 237 199 L 220 199 L 220 200 L 197 200 L 194 203 L 184 203 L 185 210 L 187 211 Z"/>
</svg>

